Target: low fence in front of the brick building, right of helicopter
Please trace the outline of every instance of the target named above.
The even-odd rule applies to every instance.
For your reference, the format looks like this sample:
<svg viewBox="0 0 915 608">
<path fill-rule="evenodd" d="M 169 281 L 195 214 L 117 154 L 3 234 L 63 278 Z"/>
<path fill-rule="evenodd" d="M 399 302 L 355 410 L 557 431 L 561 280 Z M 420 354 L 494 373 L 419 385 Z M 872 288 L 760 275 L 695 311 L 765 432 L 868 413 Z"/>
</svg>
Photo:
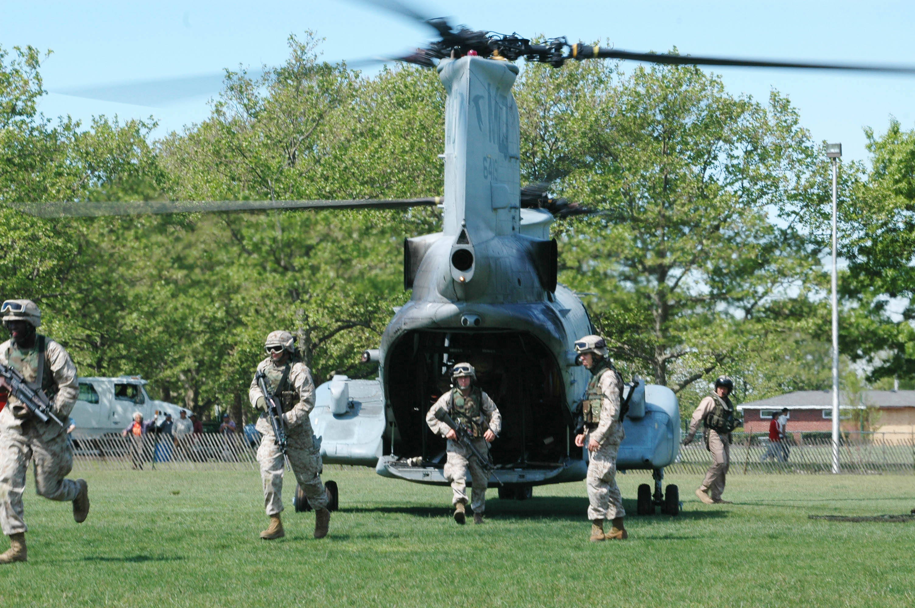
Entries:
<svg viewBox="0 0 915 608">
<path fill-rule="evenodd" d="M 730 446 L 729 475 L 814 474 L 833 470 L 833 440 L 829 433 L 789 432 L 783 442 L 769 442 L 765 433 L 736 432 Z M 670 473 L 703 475 L 712 458 L 701 436 L 680 446 Z M 843 432 L 839 442 L 842 473 L 859 475 L 915 474 L 915 441 L 910 434 Z"/>
</svg>

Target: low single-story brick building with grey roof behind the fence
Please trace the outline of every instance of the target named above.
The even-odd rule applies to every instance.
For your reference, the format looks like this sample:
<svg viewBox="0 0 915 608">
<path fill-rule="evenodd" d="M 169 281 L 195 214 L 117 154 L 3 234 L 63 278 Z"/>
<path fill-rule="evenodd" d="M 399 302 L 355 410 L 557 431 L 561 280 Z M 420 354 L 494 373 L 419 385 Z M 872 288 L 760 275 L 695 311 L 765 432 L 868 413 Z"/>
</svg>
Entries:
<svg viewBox="0 0 915 608">
<path fill-rule="evenodd" d="M 862 403 L 848 405 L 839 392 L 839 417 L 843 431 L 858 431 L 851 420 L 853 409 L 875 407 L 880 410 L 875 432 L 915 435 L 915 390 L 866 390 Z M 772 413 L 788 408 L 788 432 L 831 432 L 833 430 L 833 393 L 829 390 L 794 392 L 737 406 L 743 413 L 747 432 L 769 432 Z"/>
</svg>

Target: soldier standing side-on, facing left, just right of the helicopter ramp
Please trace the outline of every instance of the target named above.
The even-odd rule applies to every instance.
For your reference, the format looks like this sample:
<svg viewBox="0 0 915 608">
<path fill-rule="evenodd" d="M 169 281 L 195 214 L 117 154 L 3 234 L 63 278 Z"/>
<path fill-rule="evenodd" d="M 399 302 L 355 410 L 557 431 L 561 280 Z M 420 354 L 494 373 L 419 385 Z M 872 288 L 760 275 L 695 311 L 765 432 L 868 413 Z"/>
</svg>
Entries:
<svg viewBox="0 0 915 608">
<path fill-rule="evenodd" d="M 591 520 L 591 540 L 627 539 L 629 533 L 623 526 L 623 498 L 617 486 L 617 452 L 623 441 L 623 422 L 619 404 L 622 396 L 622 378 L 608 358 L 609 350 L 604 338 L 585 336 L 575 343 L 582 365 L 592 374 L 587 384 L 587 394 L 582 402 L 584 426 L 575 438 L 578 447 L 586 447 L 587 463 L 587 518 Z M 604 521 L 612 520 L 612 528 L 604 533 Z"/>
</svg>

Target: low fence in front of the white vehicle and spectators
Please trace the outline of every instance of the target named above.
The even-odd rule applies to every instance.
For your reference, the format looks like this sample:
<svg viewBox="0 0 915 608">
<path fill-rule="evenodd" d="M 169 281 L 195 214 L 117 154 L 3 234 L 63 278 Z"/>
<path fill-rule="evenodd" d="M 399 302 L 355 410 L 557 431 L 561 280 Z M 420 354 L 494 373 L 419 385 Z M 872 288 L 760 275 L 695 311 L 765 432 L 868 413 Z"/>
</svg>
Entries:
<svg viewBox="0 0 915 608">
<path fill-rule="evenodd" d="M 100 469 L 257 469 L 259 440 L 241 433 L 102 435 L 73 440 L 74 467 Z"/>
</svg>

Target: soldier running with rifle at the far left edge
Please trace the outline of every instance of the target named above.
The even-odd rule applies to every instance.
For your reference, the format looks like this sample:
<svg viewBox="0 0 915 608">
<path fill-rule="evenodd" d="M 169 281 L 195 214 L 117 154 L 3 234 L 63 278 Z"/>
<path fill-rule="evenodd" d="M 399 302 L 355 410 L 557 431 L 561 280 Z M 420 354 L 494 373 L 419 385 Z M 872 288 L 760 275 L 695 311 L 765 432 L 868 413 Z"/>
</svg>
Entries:
<svg viewBox="0 0 915 608">
<path fill-rule="evenodd" d="M 66 421 L 79 394 L 76 367 L 57 342 L 39 336 L 41 312 L 30 300 L 7 300 L 0 306 L 10 339 L 0 344 L 0 363 L 16 368 L 33 387 L 42 389 L 54 414 Z M 10 549 L 0 554 L 0 563 L 26 561 L 26 522 L 22 493 L 26 489 L 29 461 L 35 471 L 38 496 L 71 501 L 73 518 L 85 521 L 89 514 L 89 487 L 85 480 L 65 479 L 73 468 L 73 450 L 66 429 L 54 421 L 33 417 L 19 400 L 4 395 L 0 411 L 0 525 L 10 539 Z"/>
</svg>

